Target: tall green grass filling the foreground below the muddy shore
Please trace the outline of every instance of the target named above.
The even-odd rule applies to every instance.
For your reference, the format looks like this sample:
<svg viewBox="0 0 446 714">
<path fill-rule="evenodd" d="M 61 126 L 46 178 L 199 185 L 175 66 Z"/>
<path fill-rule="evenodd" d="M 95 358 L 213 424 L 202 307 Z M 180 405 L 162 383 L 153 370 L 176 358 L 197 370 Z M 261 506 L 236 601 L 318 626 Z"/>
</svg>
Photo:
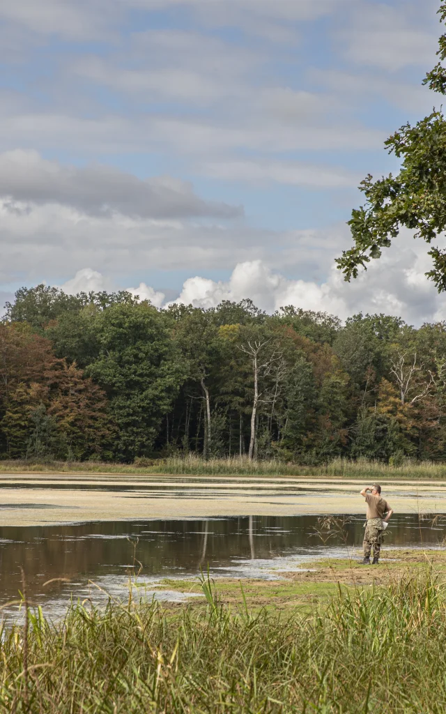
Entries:
<svg viewBox="0 0 446 714">
<path fill-rule="evenodd" d="M 1 713 L 400 713 L 446 709 L 446 595 L 429 570 L 284 617 L 78 605 L 4 628 Z M 24 655 L 26 654 L 26 668 Z"/>
</svg>

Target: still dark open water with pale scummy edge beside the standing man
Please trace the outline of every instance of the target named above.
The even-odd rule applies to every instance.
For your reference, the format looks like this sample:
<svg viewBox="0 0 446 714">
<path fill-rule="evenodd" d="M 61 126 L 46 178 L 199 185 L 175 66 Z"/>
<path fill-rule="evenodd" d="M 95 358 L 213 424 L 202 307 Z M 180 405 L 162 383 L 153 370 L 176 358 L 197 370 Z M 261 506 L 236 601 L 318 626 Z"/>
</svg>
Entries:
<svg viewBox="0 0 446 714">
<path fill-rule="evenodd" d="M 128 576 L 140 570 L 144 595 L 181 600 L 184 595 L 156 587 L 161 578 L 211 575 L 278 578 L 280 570 L 305 568 L 327 555 L 345 557 L 360 548 L 363 516 L 350 516 L 345 535 L 324 542 L 315 516 L 259 516 L 184 521 L 114 521 L 79 525 L 0 528 L 0 605 L 16 613 L 21 568 L 30 600 L 46 614 L 60 614 L 74 600 L 125 596 Z M 446 517 L 436 523 L 416 515 L 394 516 L 385 547 L 439 547 Z M 353 552 L 355 552 L 353 550 Z M 360 550 L 357 550 L 360 555 Z M 54 580 L 64 578 L 64 580 Z M 101 589 L 100 589 L 101 588 Z M 142 592 L 139 591 L 140 594 Z"/>
</svg>

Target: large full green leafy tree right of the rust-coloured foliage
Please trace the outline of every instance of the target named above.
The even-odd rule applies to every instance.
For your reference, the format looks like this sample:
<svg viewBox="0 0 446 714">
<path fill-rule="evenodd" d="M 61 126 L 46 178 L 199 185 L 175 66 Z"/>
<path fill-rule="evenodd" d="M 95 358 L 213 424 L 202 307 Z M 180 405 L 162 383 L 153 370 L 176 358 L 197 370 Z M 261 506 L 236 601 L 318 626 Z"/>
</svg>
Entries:
<svg viewBox="0 0 446 714">
<path fill-rule="evenodd" d="M 148 456 L 186 378 L 170 318 L 150 303 L 117 303 L 96 314 L 98 358 L 86 373 L 106 392 L 118 426 L 117 458 Z"/>
</svg>

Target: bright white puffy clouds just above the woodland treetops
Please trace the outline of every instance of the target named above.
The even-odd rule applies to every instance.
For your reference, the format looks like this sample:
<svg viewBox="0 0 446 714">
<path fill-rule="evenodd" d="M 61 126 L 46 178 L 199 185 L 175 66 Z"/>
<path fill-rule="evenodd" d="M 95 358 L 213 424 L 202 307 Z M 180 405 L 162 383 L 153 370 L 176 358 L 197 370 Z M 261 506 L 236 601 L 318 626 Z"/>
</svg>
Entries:
<svg viewBox="0 0 446 714">
<path fill-rule="evenodd" d="M 126 289 L 158 308 L 184 303 L 207 309 L 223 300 L 238 302 L 250 298 L 268 313 L 294 305 L 332 313 L 343 320 L 362 311 L 401 316 L 408 323 L 420 325 L 446 318 L 445 296 L 439 295 L 425 276 L 429 268 L 430 258 L 424 243 L 410 243 L 410 235 L 402 233 L 392 249 L 384 251 L 379 261 L 372 261 L 368 271 L 360 273 L 351 283 L 343 280 L 333 264 L 325 281 L 315 281 L 290 278 L 271 268 L 267 261 L 255 259 L 238 263 L 228 280 L 216 281 L 200 275 L 188 278 L 178 298 L 171 302 L 166 302 L 163 291 L 156 291 L 143 282 L 138 288 Z M 90 288 L 91 285 L 95 288 Z M 77 292 L 110 289 L 109 286 L 110 280 L 101 273 L 83 269 L 63 288 Z"/>
</svg>

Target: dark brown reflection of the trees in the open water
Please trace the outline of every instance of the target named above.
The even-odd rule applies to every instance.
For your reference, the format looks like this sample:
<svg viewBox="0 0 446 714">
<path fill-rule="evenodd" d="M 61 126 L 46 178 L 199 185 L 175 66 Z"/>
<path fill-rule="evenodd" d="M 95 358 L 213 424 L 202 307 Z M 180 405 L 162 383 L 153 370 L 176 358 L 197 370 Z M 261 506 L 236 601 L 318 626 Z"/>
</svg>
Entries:
<svg viewBox="0 0 446 714">
<path fill-rule="evenodd" d="M 42 589 L 52 578 L 86 583 L 106 575 L 123 575 L 136 558 L 141 575 L 195 575 L 200 569 L 233 568 L 240 561 L 311 555 L 324 548 L 358 545 L 363 541 L 364 517 L 353 516 L 345 525 L 347 537 L 334 533 L 324 546 L 314 537 L 317 516 L 249 516 L 209 518 L 206 521 L 115 521 L 78 525 L 0 528 L 0 602 L 16 598 L 23 567 L 30 598 L 55 597 L 58 583 Z M 198 526 L 198 527 L 197 527 Z M 386 532 L 390 545 L 442 545 L 444 518 L 416 514 L 394 516 Z M 345 545 L 343 540 L 345 539 Z M 255 544 L 255 545 L 254 545 Z M 221 570 L 219 570 L 221 572 Z M 48 590 L 49 592 L 46 592 Z"/>
</svg>

